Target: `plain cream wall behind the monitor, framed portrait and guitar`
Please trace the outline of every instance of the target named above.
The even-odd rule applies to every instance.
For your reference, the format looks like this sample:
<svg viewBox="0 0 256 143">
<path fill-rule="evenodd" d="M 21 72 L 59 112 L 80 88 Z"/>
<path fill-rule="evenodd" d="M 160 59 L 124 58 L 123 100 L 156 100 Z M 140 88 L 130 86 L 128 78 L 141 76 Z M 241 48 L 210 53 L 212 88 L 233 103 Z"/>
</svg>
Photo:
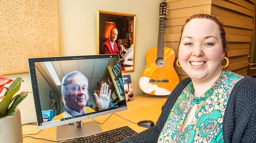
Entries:
<svg viewBox="0 0 256 143">
<path fill-rule="evenodd" d="M 165 0 L 58 0 L 59 34 L 61 56 L 96 54 L 96 11 L 113 11 L 136 14 L 135 70 L 131 75 L 134 95 L 142 94 L 138 79 L 146 66 L 145 54 L 157 46 L 158 8 Z M 25 82 L 20 91 L 32 91 L 28 73 L 6 75 L 11 79 L 17 76 Z M 35 122 L 32 94 L 18 106 L 21 109 L 22 124 Z"/>
</svg>

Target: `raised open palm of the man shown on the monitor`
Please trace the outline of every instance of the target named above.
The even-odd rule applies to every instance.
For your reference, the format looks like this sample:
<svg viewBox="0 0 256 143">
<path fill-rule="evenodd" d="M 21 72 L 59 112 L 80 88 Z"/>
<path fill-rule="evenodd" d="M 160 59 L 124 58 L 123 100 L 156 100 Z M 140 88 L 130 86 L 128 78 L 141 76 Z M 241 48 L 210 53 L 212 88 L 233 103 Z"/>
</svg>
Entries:
<svg viewBox="0 0 256 143">
<path fill-rule="evenodd" d="M 99 110 L 108 109 L 110 93 L 111 89 L 108 91 L 108 85 L 106 83 L 101 85 L 100 96 L 94 93 Z"/>
</svg>

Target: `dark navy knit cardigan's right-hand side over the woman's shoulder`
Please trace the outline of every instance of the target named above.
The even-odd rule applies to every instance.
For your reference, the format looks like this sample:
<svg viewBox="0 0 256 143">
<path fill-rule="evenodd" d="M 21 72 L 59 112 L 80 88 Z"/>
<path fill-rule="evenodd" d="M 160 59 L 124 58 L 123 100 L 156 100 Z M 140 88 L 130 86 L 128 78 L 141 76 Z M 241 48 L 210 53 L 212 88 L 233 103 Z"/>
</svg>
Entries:
<svg viewBox="0 0 256 143">
<path fill-rule="evenodd" d="M 256 78 L 245 76 L 231 91 L 223 118 L 224 140 L 250 141 L 254 137 L 256 113 Z M 247 131 L 246 131 L 247 130 Z"/>
</svg>

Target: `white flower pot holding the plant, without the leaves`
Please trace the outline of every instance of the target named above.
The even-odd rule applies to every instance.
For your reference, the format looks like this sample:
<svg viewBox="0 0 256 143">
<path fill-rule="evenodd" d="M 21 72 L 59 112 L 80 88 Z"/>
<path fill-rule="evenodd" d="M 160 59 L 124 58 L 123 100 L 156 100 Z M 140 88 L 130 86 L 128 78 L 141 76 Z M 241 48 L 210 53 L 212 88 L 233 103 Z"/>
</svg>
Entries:
<svg viewBox="0 0 256 143">
<path fill-rule="evenodd" d="M 0 118 L 0 140 L 2 143 L 23 143 L 21 113 Z"/>
</svg>

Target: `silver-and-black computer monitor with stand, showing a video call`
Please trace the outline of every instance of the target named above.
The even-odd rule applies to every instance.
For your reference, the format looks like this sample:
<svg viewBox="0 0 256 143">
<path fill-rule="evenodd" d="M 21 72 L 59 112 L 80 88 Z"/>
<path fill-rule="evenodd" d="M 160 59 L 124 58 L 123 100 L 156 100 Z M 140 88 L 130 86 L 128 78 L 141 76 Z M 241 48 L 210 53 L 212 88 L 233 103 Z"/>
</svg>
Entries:
<svg viewBox="0 0 256 143">
<path fill-rule="evenodd" d="M 102 132 L 96 121 L 80 121 L 127 110 L 118 54 L 28 58 L 28 65 L 38 129 L 58 126 L 57 141 Z"/>
</svg>

